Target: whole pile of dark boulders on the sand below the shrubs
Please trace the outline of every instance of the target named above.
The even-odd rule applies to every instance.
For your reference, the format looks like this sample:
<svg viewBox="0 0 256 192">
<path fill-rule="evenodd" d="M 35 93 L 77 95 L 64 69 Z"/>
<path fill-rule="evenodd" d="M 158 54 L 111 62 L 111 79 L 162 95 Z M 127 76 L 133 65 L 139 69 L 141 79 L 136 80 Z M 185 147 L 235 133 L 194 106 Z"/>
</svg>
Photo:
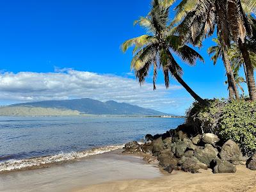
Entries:
<svg viewBox="0 0 256 192">
<path fill-rule="evenodd" d="M 248 159 L 243 157 L 237 143 L 232 140 L 222 141 L 212 133 L 195 134 L 180 125 L 177 129 L 164 134 L 145 136 L 146 143 L 136 141 L 127 143 L 124 153 L 151 154 L 145 157 L 148 163 L 159 163 L 159 166 L 169 173 L 173 170 L 198 173 L 198 170 L 208 168 L 213 173 L 235 173 L 236 165 L 247 164 L 248 168 L 256 170 L 256 155 Z"/>
</svg>

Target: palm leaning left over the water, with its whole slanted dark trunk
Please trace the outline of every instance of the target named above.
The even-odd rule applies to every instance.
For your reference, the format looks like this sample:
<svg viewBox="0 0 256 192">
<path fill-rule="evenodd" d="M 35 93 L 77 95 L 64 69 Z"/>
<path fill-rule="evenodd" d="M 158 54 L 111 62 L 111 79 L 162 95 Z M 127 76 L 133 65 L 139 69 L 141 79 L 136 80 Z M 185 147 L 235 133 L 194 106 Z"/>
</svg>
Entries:
<svg viewBox="0 0 256 192">
<path fill-rule="evenodd" d="M 196 59 L 204 61 L 202 56 L 186 44 L 182 44 L 179 36 L 170 32 L 168 20 L 169 8 L 172 3 L 166 6 L 166 1 L 153 0 L 152 10 L 147 17 L 140 17 L 135 24 L 147 30 L 146 35 L 127 40 L 122 44 L 122 51 L 127 51 L 134 46 L 131 69 L 134 70 L 138 81 L 143 83 L 148 76 L 150 67 L 154 68 L 153 84 L 156 89 L 157 68 L 163 68 L 164 82 L 166 88 L 169 86 L 169 73 L 184 86 L 190 95 L 198 102 L 205 104 L 205 100 L 199 97 L 182 79 L 182 68 L 173 56 L 173 52 L 189 65 L 195 65 Z"/>
</svg>

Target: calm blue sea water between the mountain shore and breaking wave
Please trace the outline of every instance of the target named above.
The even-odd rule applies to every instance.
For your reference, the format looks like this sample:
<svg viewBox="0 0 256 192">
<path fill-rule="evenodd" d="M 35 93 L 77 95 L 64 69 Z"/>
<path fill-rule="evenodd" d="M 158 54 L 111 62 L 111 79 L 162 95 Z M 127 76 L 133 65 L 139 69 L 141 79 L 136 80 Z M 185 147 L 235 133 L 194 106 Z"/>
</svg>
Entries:
<svg viewBox="0 0 256 192">
<path fill-rule="evenodd" d="M 182 118 L 1 116 L 0 162 L 123 144 L 183 122 Z"/>
</svg>

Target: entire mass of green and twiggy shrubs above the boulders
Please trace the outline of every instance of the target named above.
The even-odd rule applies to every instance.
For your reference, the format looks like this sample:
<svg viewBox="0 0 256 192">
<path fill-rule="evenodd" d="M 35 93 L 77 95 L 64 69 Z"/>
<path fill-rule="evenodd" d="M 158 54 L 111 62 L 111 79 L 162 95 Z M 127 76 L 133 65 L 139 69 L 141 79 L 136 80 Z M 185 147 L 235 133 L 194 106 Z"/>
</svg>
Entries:
<svg viewBox="0 0 256 192">
<path fill-rule="evenodd" d="M 223 140 L 235 141 L 243 154 L 256 152 L 256 102 L 209 100 L 208 106 L 194 103 L 186 115 L 186 123 L 198 131 L 212 132 Z"/>
</svg>

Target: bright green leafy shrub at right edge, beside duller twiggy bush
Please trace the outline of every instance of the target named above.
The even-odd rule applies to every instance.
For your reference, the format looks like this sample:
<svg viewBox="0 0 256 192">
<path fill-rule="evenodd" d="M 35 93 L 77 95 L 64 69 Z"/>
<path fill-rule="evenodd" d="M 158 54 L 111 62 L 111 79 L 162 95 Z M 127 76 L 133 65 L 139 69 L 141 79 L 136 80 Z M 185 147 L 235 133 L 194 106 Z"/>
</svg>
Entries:
<svg viewBox="0 0 256 192">
<path fill-rule="evenodd" d="M 239 143 L 245 154 L 256 151 L 256 102 L 235 100 L 223 108 L 220 119 L 223 138 Z"/>
</svg>

